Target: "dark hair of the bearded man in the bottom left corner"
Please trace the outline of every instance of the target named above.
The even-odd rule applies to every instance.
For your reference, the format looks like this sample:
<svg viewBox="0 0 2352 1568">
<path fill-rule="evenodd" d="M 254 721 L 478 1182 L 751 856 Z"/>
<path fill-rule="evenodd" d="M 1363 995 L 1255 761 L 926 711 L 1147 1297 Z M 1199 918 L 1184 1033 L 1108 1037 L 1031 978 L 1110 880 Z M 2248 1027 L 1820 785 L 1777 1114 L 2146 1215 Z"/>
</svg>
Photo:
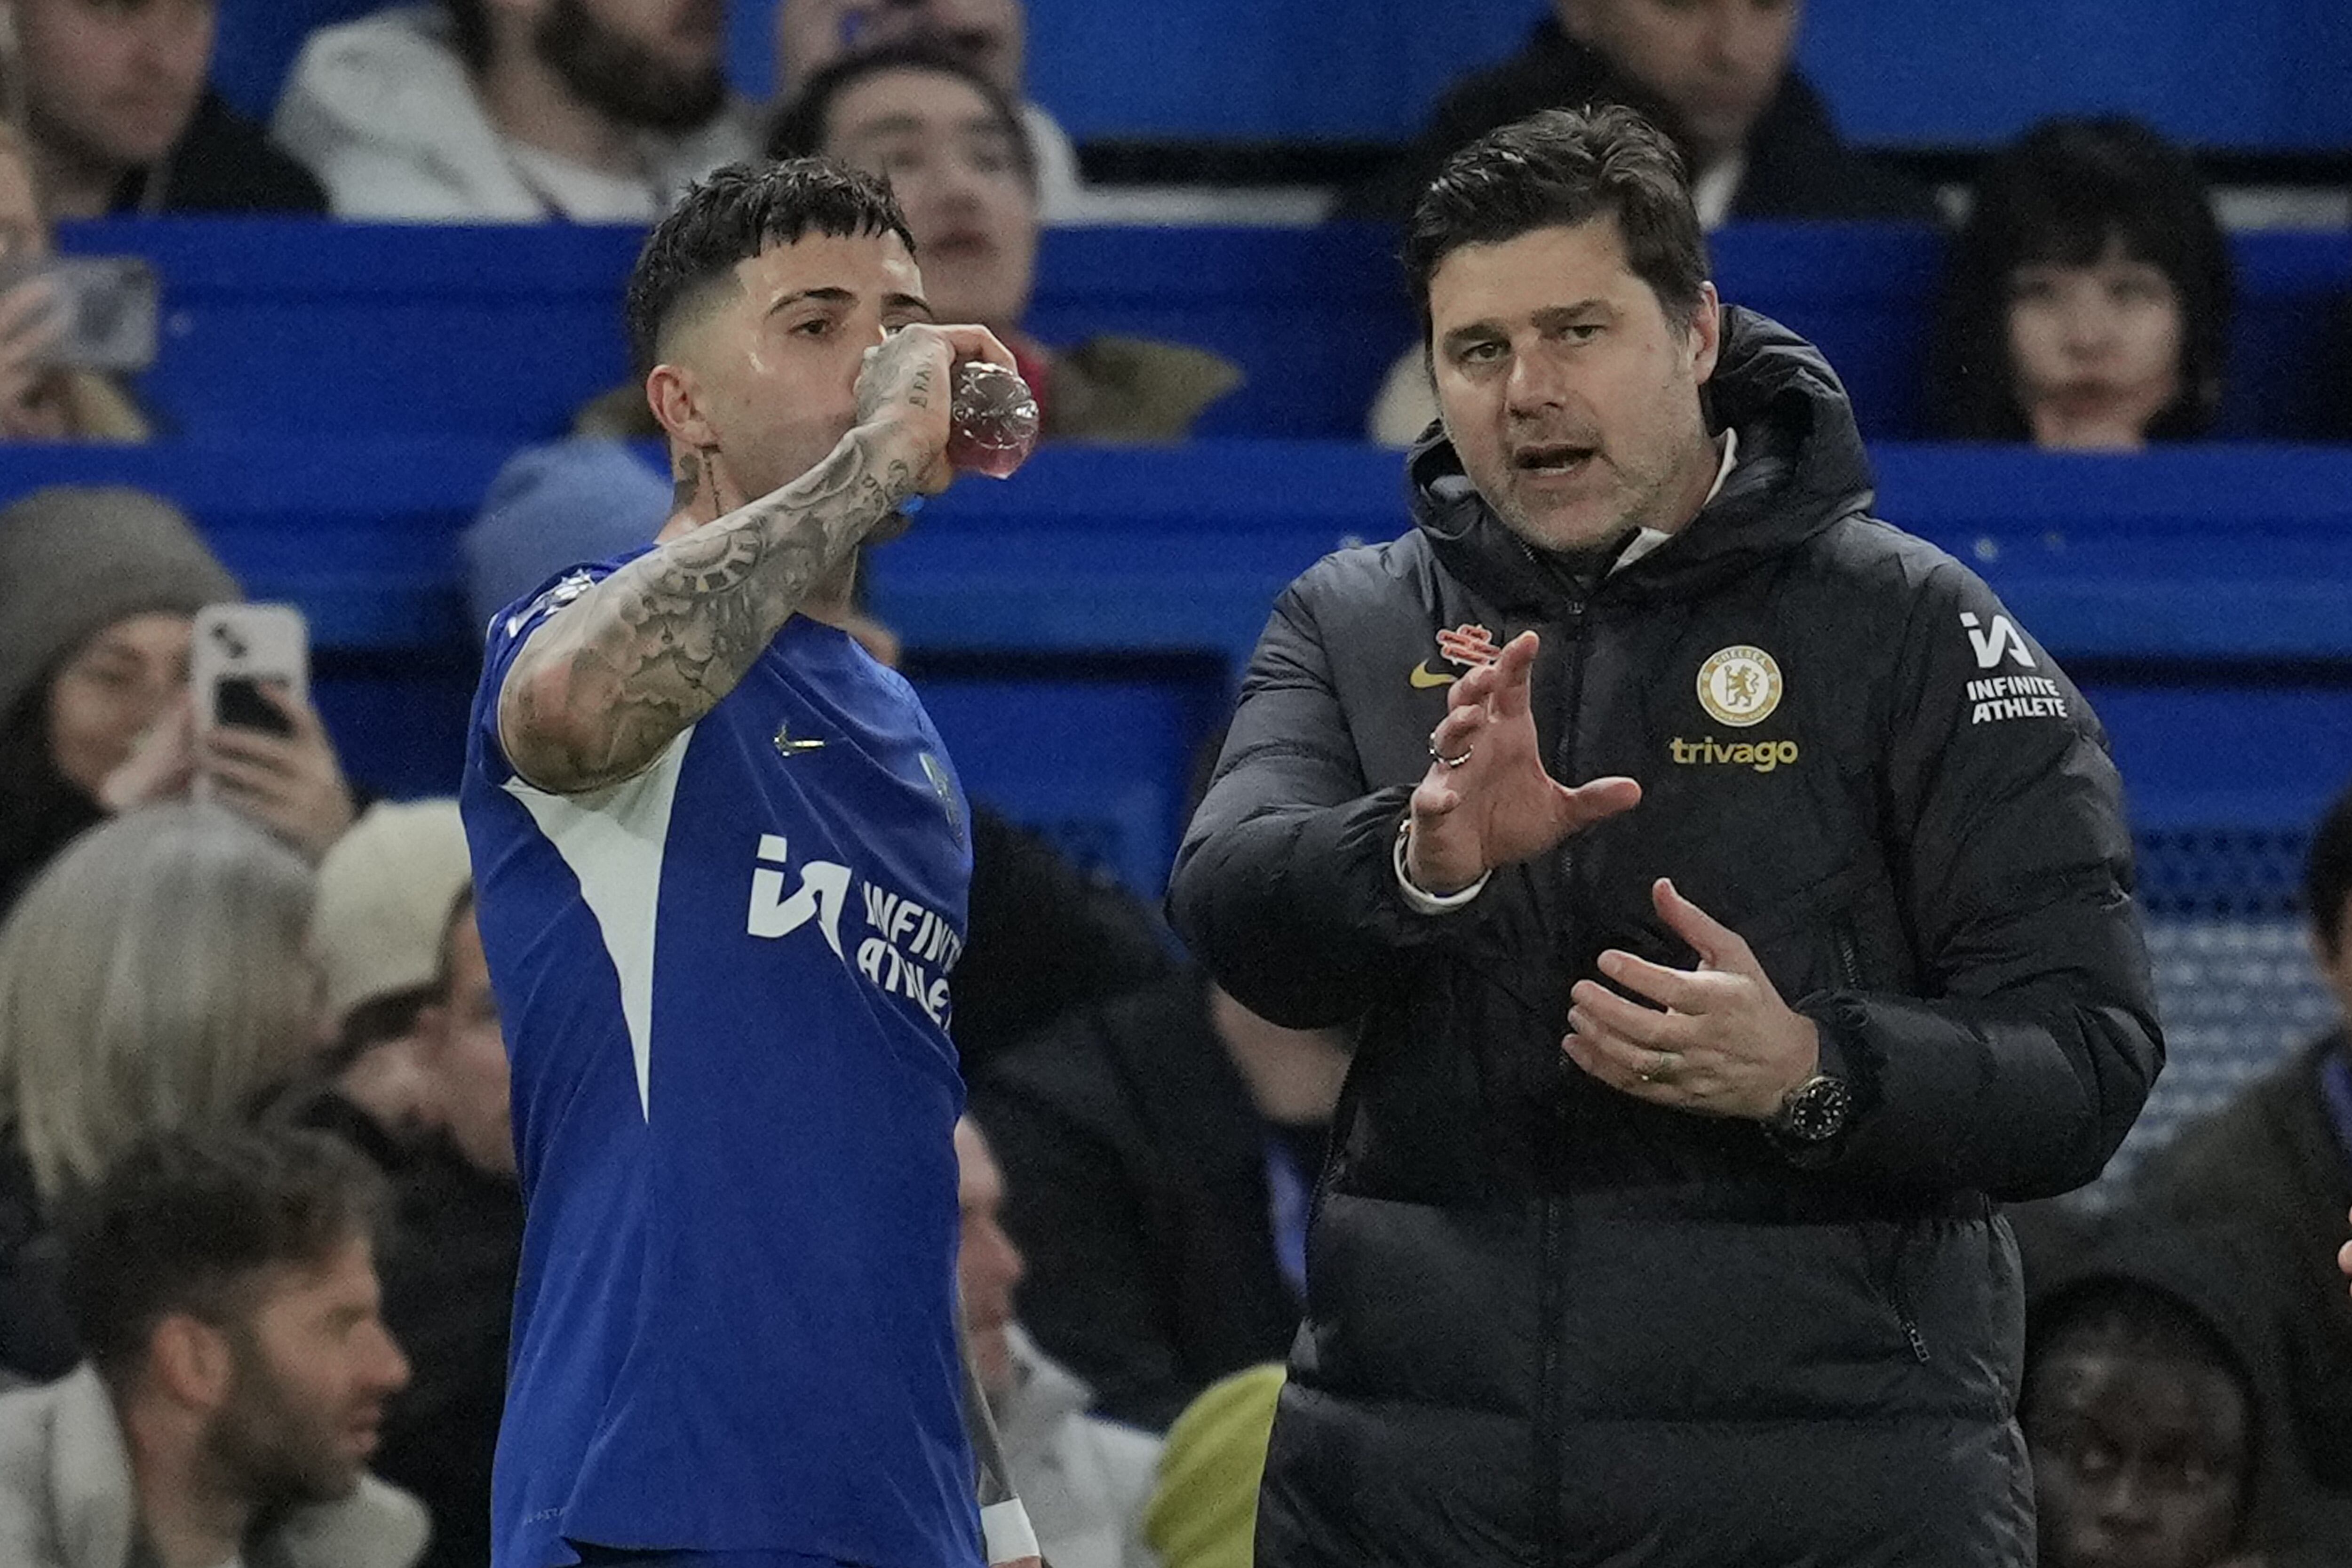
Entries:
<svg viewBox="0 0 2352 1568">
<path fill-rule="evenodd" d="M 386 1215 L 383 1175 L 327 1133 L 153 1133 L 64 1204 L 66 1312 L 99 1371 L 118 1375 L 165 1316 L 233 1324 L 261 1269 L 322 1265 Z"/>
</svg>

